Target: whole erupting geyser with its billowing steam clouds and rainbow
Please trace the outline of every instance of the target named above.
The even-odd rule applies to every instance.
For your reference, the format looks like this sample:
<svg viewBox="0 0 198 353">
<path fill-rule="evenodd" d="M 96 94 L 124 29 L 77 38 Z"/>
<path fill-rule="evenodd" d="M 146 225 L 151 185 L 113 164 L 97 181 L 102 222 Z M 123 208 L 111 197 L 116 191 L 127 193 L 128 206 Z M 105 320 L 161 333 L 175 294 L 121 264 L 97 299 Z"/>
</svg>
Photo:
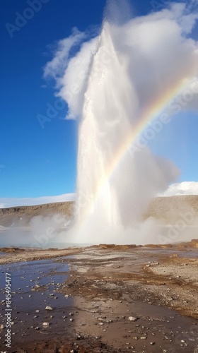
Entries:
<svg viewBox="0 0 198 353">
<path fill-rule="evenodd" d="M 192 78 L 197 84 L 197 42 L 190 38 L 197 18 L 183 3 L 132 18 L 125 1 L 108 1 L 100 36 L 68 60 L 59 95 L 68 117 L 81 116 L 72 242 L 158 242 L 150 237 L 153 220 L 141 222 L 142 215 L 178 170 L 149 143 L 183 109 L 175 103 Z M 66 45 L 85 38 L 74 30 Z M 185 109 L 197 109 L 196 94 Z"/>
</svg>

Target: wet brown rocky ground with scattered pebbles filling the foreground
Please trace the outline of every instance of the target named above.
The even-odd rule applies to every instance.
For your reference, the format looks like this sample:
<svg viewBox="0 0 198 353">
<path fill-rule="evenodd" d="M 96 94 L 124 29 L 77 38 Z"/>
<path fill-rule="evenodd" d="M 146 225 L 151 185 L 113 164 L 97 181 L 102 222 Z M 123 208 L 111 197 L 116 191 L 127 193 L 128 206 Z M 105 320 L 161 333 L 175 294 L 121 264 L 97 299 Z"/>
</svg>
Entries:
<svg viewBox="0 0 198 353">
<path fill-rule="evenodd" d="M 2 352 L 197 353 L 197 244 L 1 249 Z"/>
</svg>

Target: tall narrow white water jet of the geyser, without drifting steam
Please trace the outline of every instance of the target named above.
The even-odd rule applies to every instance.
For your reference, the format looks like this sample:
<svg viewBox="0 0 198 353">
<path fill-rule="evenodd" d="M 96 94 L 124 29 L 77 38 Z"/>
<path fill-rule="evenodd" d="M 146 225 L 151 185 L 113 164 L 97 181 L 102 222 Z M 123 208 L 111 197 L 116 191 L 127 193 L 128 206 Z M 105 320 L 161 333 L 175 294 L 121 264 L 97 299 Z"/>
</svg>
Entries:
<svg viewBox="0 0 198 353">
<path fill-rule="evenodd" d="M 110 25 L 105 23 L 91 64 L 79 129 L 77 217 L 80 221 L 96 214 L 107 225 L 122 221 L 117 191 L 124 181 L 123 171 L 117 171 L 121 178 L 118 185 L 109 172 L 126 132 L 132 128 L 129 114 L 136 107 L 136 95 L 125 64 L 122 54 L 115 51 Z"/>
</svg>

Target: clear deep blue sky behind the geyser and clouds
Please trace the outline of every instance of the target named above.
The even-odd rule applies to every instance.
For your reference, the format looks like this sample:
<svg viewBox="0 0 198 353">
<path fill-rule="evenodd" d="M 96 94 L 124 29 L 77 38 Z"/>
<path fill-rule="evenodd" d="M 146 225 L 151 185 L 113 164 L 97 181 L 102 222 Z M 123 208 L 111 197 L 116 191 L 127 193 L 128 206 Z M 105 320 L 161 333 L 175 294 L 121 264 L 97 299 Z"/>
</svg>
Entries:
<svg viewBox="0 0 198 353">
<path fill-rule="evenodd" d="M 131 2 L 136 15 L 151 11 L 148 0 Z M 37 121 L 37 114 L 46 115 L 47 104 L 54 107 L 57 100 L 53 81 L 43 78 L 43 67 L 52 59 L 55 44 L 68 37 L 72 28 L 84 31 L 101 25 L 104 6 L 105 0 L 43 0 L 40 11 L 33 12 L 33 18 L 20 30 L 13 30 L 11 37 L 6 23 L 15 25 L 16 12 L 23 14 L 30 5 L 23 0 L 1 1 L 0 198 L 75 192 L 78 126 L 76 121 L 64 119 L 66 105 L 45 128 Z M 180 132 L 185 133 L 187 145 L 177 131 L 175 152 L 164 150 L 163 144 L 160 152 L 173 152 L 173 160 L 182 169 L 181 181 L 197 181 L 197 116 L 192 116 L 187 126 L 188 131 Z"/>
</svg>

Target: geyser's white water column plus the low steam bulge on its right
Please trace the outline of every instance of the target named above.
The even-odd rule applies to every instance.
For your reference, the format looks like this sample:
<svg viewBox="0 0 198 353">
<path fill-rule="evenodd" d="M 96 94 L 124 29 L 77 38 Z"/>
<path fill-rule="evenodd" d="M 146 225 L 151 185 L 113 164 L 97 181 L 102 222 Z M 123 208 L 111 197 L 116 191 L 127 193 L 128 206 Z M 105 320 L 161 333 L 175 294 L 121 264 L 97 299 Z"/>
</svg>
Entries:
<svg viewBox="0 0 198 353">
<path fill-rule="evenodd" d="M 139 221 L 150 199 L 177 174 L 148 148 L 130 149 L 142 107 L 129 74 L 133 58 L 119 32 L 120 26 L 104 21 L 88 74 L 78 141 L 79 242 L 114 241 L 117 229 L 122 233 Z"/>
</svg>

